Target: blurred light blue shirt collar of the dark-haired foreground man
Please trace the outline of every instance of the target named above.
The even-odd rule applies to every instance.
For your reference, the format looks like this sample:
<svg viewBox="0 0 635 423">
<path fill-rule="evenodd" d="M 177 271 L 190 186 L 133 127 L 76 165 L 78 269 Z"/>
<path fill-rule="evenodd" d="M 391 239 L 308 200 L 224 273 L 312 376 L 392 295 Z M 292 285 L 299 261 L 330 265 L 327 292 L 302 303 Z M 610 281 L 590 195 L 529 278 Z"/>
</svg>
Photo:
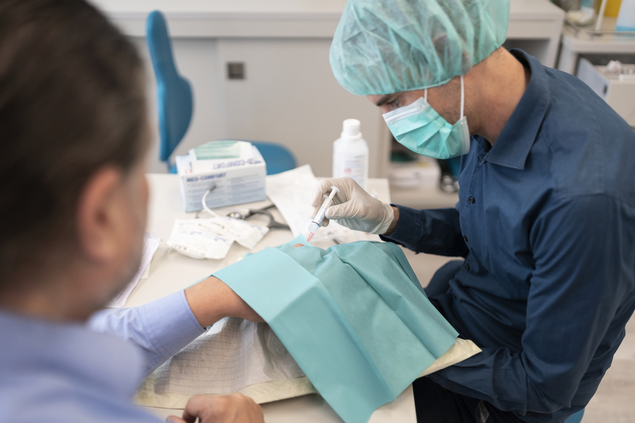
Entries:
<svg viewBox="0 0 635 423">
<path fill-rule="evenodd" d="M 143 379 L 139 348 L 79 323 L 51 322 L 0 309 L 0 374 L 28 368 L 104 389 L 130 400 Z"/>
</svg>

